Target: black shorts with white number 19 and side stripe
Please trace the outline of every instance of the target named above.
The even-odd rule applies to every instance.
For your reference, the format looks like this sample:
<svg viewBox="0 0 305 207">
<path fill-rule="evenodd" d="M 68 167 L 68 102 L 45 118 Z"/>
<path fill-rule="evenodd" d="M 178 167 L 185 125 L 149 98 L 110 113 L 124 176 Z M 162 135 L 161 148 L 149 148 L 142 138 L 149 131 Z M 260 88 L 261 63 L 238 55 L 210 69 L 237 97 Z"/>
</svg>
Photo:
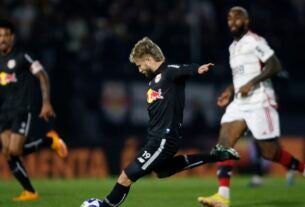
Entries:
<svg viewBox="0 0 305 207">
<path fill-rule="evenodd" d="M 139 178 L 160 171 L 171 160 L 180 147 L 181 139 L 150 137 L 135 159 L 124 170 L 127 177 L 135 182 Z"/>
</svg>

